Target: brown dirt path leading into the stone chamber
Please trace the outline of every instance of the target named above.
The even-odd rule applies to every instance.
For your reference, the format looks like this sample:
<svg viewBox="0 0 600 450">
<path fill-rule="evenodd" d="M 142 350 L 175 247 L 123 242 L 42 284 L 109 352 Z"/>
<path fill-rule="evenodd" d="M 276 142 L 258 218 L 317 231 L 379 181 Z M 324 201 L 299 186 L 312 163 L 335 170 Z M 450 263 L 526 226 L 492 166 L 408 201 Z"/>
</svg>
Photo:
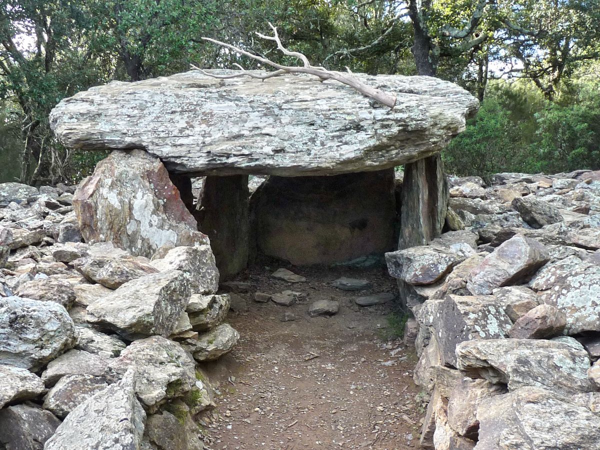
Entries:
<svg viewBox="0 0 600 450">
<path fill-rule="evenodd" d="M 241 333 L 227 367 L 218 407 L 206 418 L 211 449 L 404 449 L 416 446 L 422 406 L 412 382 L 415 355 L 386 341 L 392 304 L 358 307 L 353 299 L 394 292 L 381 269 L 301 271 L 307 283 L 290 285 L 266 272 L 247 274 L 242 305 L 229 322 Z M 331 287 L 340 276 L 366 278 L 372 289 Z M 251 300 L 254 292 L 291 289 L 307 298 L 290 307 Z M 340 302 L 332 317 L 309 317 L 319 298 Z M 244 304 L 244 299 L 247 304 Z M 234 305 L 235 306 L 235 305 Z M 282 322 L 284 313 L 296 320 Z M 382 338 L 384 340 L 382 340 Z M 223 375 L 225 375 L 223 377 Z"/>
</svg>

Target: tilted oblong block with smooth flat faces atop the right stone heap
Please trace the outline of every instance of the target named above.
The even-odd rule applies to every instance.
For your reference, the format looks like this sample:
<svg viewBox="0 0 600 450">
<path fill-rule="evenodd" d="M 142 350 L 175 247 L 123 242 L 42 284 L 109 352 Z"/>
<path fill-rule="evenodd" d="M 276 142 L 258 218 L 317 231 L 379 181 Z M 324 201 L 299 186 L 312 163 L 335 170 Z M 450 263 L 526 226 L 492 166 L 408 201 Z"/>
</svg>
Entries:
<svg viewBox="0 0 600 450">
<path fill-rule="evenodd" d="M 527 280 L 549 259 L 539 242 L 516 235 L 473 269 L 467 280 L 467 289 L 475 295 L 491 294 L 496 287 Z"/>
</svg>

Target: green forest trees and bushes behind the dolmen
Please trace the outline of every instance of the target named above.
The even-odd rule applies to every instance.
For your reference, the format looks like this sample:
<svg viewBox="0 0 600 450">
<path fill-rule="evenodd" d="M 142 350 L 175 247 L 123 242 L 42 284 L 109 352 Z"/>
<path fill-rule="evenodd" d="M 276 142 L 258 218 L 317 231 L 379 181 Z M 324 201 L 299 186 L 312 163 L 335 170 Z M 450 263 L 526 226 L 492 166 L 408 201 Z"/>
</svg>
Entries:
<svg viewBox="0 0 600 450">
<path fill-rule="evenodd" d="M 0 182 L 77 182 L 104 152 L 64 148 L 50 110 L 110 80 L 257 68 L 201 38 L 297 64 L 451 80 L 481 101 L 446 170 L 600 169 L 600 0 L 0 0 Z"/>
</svg>

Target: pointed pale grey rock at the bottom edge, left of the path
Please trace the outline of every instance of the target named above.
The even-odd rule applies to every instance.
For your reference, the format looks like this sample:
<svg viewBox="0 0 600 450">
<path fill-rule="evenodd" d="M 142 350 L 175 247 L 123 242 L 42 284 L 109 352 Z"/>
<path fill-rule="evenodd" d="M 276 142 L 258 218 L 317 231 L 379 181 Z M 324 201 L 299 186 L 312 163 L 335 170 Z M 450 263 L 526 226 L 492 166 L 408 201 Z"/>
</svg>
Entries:
<svg viewBox="0 0 600 450">
<path fill-rule="evenodd" d="M 138 450 L 146 413 L 134 392 L 133 370 L 79 404 L 44 450 Z"/>
</svg>

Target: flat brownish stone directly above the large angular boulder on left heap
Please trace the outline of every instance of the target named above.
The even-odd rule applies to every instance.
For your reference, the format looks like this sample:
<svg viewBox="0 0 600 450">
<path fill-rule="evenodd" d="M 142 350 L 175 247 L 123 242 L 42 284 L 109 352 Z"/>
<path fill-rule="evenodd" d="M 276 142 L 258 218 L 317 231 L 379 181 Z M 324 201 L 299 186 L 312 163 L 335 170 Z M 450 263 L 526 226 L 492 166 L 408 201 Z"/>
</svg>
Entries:
<svg viewBox="0 0 600 450">
<path fill-rule="evenodd" d="M 89 281 L 100 283 L 109 289 L 116 289 L 127 281 L 158 272 L 158 269 L 132 257 L 88 256 L 76 259 L 72 264 Z"/>
</svg>

